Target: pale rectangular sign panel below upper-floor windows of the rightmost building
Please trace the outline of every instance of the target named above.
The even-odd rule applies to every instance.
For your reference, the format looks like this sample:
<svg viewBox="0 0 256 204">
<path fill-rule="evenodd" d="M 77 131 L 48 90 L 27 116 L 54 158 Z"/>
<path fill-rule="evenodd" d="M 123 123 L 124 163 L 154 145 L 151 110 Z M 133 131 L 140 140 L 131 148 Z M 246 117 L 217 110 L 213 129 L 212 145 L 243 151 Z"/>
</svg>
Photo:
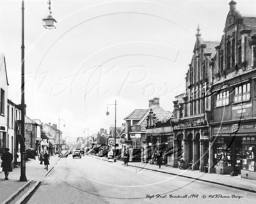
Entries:
<svg viewBox="0 0 256 204">
<path fill-rule="evenodd" d="M 252 102 L 232 106 L 232 119 L 242 119 L 244 117 L 252 117 Z"/>
</svg>

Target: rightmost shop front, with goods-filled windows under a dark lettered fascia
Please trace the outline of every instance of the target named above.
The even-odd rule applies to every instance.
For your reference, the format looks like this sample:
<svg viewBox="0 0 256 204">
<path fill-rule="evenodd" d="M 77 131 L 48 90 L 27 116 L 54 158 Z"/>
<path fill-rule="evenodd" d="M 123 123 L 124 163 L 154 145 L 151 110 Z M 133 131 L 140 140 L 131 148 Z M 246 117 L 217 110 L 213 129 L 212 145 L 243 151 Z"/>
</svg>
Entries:
<svg viewBox="0 0 256 204">
<path fill-rule="evenodd" d="M 214 173 L 256 179 L 256 121 L 212 126 Z"/>
</svg>

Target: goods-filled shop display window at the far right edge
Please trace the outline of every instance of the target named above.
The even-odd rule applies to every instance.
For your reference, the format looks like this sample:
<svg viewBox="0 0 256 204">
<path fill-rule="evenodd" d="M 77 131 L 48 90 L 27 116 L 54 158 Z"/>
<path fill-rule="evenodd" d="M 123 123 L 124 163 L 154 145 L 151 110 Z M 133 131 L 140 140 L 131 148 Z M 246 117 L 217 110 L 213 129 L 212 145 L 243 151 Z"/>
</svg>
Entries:
<svg viewBox="0 0 256 204">
<path fill-rule="evenodd" d="M 255 137 L 243 137 L 243 170 L 256 171 Z"/>
</svg>

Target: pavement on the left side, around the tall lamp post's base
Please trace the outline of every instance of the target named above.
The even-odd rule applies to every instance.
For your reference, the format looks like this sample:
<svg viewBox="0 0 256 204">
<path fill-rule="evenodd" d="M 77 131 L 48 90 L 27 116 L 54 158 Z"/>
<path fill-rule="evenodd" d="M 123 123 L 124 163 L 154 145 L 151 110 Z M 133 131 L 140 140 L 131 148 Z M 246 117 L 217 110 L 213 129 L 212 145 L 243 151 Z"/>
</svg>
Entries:
<svg viewBox="0 0 256 204">
<path fill-rule="evenodd" d="M 58 162 L 60 158 L 58 155 L 50 157 L 50 165 L 48 167 L 48 171 L 44 169 L 44 164 L 40 164 L 38 159 L 32 159 L 26 162 L 26 177 L 28 182 L 31 180 L 42 181 L 45 179 L 45 175 L 48 175 L 54 165 Z M 9 180 L 4 180 L 4 172 L 0 172 L 0 203 L 8 200 L 8 198 L 18 193 L 20 189 L 26 187 L 28 182 L 20 182 L 20 168 L 14 168 L 12 172 L 9 174 Z"/>
</svg>

